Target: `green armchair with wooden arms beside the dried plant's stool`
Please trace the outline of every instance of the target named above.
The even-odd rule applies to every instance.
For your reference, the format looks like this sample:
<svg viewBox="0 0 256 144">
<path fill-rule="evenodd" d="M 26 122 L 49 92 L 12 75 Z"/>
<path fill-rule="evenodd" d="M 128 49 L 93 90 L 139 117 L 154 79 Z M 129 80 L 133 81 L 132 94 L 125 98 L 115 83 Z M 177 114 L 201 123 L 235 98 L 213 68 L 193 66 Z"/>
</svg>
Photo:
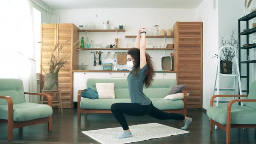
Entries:
<svg viewBox="0 0 256 144">
<path fill-rule="evenodd" d="M 43 95 L 48 105 L 25 101 L 27 95 Z M 0 79 L 0 122 L 8 124 L 8 140 L 13 139 L 13 129 L 48 123 L 52 131 L 52 97 L 49 94 L 24 92 L 20 79 Z"/>
</svg>

